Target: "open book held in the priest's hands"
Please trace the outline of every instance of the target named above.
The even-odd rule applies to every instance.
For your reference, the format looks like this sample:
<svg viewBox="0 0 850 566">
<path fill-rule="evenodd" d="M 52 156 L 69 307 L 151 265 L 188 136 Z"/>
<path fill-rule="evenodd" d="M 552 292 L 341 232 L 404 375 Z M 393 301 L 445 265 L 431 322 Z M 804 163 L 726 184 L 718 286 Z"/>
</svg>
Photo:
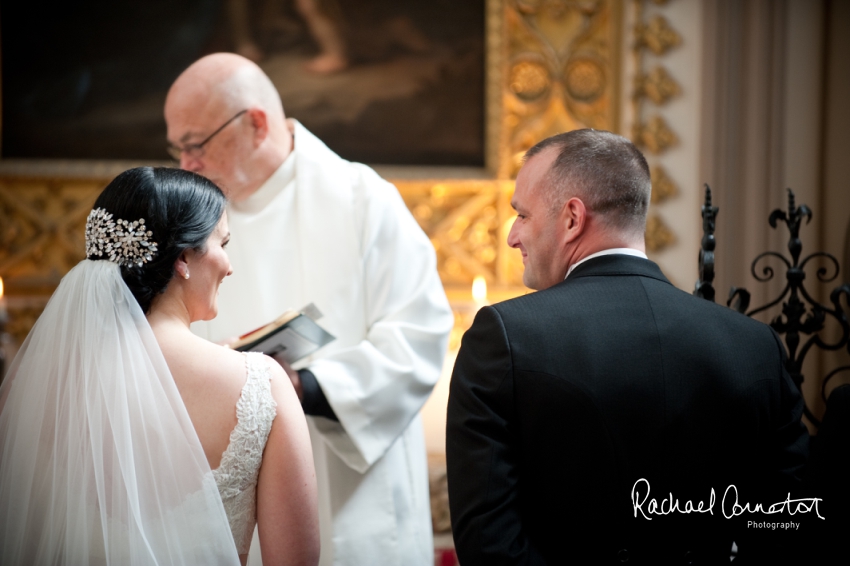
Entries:
<svg viewBox="0 0 850 566">
<path fill-rule="evenodd" d="M 280 355 L 293 364 L 336 339 L 314 319 L 321 317 L 312 303 L 298 311 L 286 311 L 269 324 L 244 334 L 230 345 L 240 352 Z"/>
</svg>

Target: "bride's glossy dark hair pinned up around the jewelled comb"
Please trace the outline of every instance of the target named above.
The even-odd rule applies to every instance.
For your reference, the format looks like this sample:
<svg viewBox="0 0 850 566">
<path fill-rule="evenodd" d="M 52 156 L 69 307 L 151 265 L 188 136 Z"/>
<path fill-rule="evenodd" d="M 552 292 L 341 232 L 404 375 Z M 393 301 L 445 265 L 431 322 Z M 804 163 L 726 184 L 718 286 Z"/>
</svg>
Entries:
<svg viewBox="0 0 850 566">
<path fill-rule="evenodd" d="M 152 261 L 141 267 L 122 266 L 121 276 L 142 311 L 150 312 L 154 297 L 165 291 L 174 277 L 174 262 L 184 250 L 206 252 L 227 199 L 212 181 L 182 169 L 137 167 L 124 171 L 100 193 L 94 208 L 103 208 L 113 219 L 145 219 L 157 243 Z M 89 259 L 102 259 L 89 256 Z"/>
</svg>

